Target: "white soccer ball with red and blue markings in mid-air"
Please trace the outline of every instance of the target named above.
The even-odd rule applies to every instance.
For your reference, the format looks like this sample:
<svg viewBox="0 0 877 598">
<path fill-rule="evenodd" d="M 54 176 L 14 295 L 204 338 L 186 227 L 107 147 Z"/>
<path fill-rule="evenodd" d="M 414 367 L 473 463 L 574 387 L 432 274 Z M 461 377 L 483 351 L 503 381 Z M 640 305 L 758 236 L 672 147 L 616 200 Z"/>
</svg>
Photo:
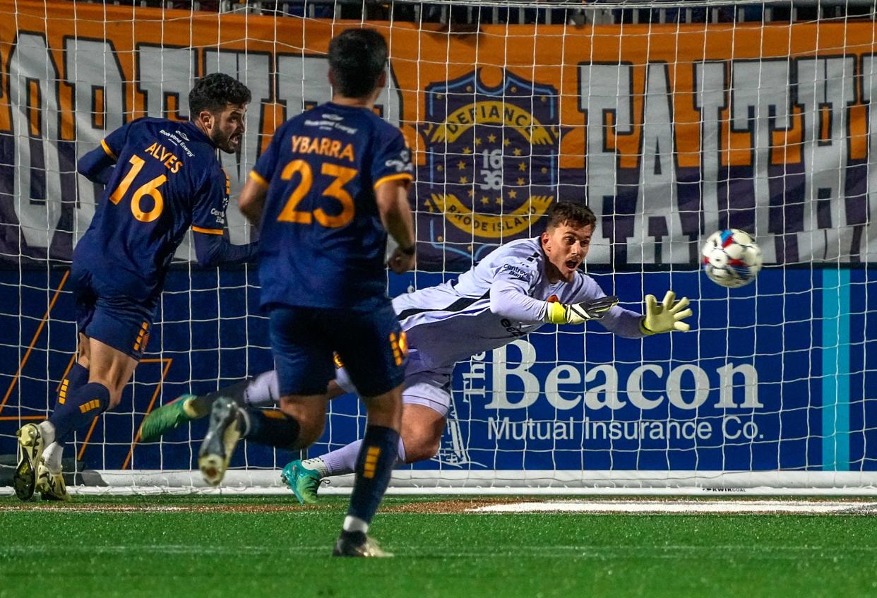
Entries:
<svg viewBox="0 0 877 598">
<path fill-rule="evenodd" d="M 755 280 L 761 269 L 761 250 L 748 232 L 736 228 L 709 235 L 701 250 L 703 271 L 710 281 L 738 288 Z"/>
</svg>

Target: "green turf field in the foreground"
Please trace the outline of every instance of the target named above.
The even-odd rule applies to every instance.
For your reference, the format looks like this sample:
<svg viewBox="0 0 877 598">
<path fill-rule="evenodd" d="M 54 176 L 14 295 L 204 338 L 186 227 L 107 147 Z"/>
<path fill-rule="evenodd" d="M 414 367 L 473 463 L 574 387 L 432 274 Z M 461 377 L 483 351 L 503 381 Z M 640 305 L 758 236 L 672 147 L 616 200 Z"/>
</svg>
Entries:
<svg viewBox="0 0 877 598">
<path fill-rule="evenodd" d="M 875 516 L 430 514 L 388 497 L 372 529 L 396 559 L 332 559 L 343 497 L 77 503 L 97 510 L 0 499 L 0 596 L 877 596 Z"/>
</svg>

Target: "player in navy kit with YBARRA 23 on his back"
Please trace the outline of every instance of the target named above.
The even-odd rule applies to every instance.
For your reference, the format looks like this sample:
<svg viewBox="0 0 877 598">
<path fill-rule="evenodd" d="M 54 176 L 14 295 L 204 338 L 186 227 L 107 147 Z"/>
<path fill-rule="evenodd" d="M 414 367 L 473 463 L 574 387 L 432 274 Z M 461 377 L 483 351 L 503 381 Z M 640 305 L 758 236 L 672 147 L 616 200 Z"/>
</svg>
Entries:
<svg viewBox="0 0 877 598">
<path fill-rule="evenodd" d="M 388 556 L 367 536 L 396 462 L 405 335 L 386 292 L 389 267 L 414 265 L 402 133 L 374 113 L 387 80 L 387 43 L 350 29 L 329 44 L 332 101 L 275 131 L 240 196 L 260 227 L 261 305 L 269 314 L 282 418 L 220 399 L 199 451 L 204 480 L 222 481 L 239 438 L 312 444 L 323 431 L 333 352 L 345 360 L 368 411 L 350 509 L 336 556 Z M 276 413 L 276 412 L 275 412 Z"/>
</svg>

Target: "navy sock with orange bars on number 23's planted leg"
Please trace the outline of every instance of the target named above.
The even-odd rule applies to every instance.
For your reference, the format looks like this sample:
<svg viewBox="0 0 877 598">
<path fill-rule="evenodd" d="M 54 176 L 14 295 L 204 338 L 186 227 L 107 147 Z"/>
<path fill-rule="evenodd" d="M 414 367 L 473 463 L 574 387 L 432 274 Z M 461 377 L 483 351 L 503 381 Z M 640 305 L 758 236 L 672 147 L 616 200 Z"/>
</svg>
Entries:
<svg viewBox="0 0 877 598">
<path fill-rule="evenodd" d="M 399 432 L 381 425 L 368 425 L 356 460 L 356 480 L 350 508 L 344 520 L 346 533 L 366 533 L 396 466 Z"/>
</svg>

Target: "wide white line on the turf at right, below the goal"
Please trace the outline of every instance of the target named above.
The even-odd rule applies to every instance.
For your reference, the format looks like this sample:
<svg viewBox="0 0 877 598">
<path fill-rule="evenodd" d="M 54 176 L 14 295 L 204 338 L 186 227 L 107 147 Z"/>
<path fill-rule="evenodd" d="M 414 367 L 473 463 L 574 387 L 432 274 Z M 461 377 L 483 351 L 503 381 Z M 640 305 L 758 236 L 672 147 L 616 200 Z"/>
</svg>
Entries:
<svg viewBox="0 0 877 598">
<path fill-rule="evenodd" d="M 875 502 L 824 501 L 542 501 L 492 504 L 467 513 L 875 514 Z"/>
</svg>

